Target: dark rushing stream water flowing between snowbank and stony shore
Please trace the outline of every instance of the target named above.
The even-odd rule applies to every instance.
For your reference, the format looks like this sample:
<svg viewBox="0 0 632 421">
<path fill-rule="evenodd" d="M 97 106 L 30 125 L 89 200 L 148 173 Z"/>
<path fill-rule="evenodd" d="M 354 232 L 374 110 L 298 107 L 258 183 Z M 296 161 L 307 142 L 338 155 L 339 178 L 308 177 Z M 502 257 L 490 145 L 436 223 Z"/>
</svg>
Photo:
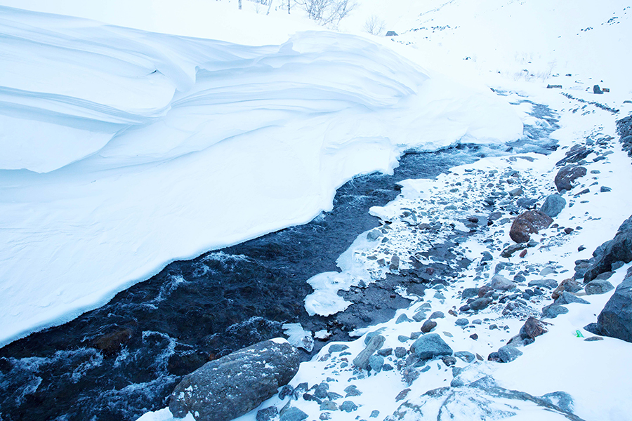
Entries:
<svg viewBox="0 0 632 421">
<path fill-rule="evenodd" d="M 532 147 L 532 139 L 513 145 Z M 489 152 L 502 153 L 460 146 L 405 154 L 393 175 L 343 185 L 334 210 L 306 225 L 173 262 L 107 305 L 7 345 L 0 349 L 0 420 L 135 420 L 164 408 L 181 376 L 282 335 L 282 323 L 326 328 L 345 340 L 350 330 L 390 319 L 408 305 L 393 293 L 402 279 L 350 291 L 360 297 L 349 298 L 356 304 L 329 317 L 306 314 L 303 299 L 312 289 L 305 281 L 336 270 L 357 235 L 378 225 L 368 210 L 395 199 L 397 181 L 433 178 Z"/>
</svg>

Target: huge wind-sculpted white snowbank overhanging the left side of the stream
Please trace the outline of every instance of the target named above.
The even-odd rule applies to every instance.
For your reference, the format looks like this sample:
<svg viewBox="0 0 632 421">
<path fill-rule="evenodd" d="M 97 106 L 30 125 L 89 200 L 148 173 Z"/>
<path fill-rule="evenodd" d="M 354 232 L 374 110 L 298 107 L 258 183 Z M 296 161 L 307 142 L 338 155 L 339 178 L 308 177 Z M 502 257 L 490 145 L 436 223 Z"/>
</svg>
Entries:
<svg viewBox="0 0 632 421">
<path fill-rule="evenodd" d="M 278 46 L 0 7 L 0 344 L 307 222 L 404 149 L 505 142 L 491 92 L 355 36 Z"/>
</svg>

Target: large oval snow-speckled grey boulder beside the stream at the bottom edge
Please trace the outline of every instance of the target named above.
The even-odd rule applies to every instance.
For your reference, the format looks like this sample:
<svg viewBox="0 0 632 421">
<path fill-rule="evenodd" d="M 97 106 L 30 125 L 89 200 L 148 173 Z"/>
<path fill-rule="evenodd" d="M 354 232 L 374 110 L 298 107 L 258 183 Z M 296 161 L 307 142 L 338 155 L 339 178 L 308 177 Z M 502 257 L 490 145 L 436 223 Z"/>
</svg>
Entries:
<svg viewBox="0 0 632 421">
<path fill-rule="evenodd" d="M 199 421 L 233 420 L 287 385 L 299 362 L 298 350 L 288 342 L 259 342 L 186 375 L 171 394 L 169 410 L 178 418 L 192 413 Z"/>
</svg>

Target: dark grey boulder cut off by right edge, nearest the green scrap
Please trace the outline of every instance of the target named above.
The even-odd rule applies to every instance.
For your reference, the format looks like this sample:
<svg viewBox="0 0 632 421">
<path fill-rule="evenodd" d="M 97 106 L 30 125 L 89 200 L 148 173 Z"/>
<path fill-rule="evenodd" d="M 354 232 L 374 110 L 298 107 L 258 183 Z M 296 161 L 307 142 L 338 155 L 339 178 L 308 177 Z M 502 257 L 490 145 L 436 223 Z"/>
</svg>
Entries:
<svg viewBox="0 0 632 421">
<path fill-rule="evenodd" d="M 597 318 L 600 335 L 632 342 L 632 269 Z"/>
</svg>

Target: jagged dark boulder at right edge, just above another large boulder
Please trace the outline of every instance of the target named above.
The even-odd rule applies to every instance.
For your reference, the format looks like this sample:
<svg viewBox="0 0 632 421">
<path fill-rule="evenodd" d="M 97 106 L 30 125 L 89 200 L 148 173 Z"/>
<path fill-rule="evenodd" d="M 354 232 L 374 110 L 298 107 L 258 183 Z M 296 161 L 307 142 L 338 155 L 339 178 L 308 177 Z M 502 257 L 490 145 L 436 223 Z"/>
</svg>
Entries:
<svg viewBox="0 0 632 421">
<path fill-rule="evenodd" d="M 590 267 L 584 274 L 584 282 L 588 283 L 603 272 L 610 272 L 614 262 L 632 262 L 632 216 L 628 218 L 614 239 L 606 241 L 595 250 L 590 260 Z"/>
</svg>

